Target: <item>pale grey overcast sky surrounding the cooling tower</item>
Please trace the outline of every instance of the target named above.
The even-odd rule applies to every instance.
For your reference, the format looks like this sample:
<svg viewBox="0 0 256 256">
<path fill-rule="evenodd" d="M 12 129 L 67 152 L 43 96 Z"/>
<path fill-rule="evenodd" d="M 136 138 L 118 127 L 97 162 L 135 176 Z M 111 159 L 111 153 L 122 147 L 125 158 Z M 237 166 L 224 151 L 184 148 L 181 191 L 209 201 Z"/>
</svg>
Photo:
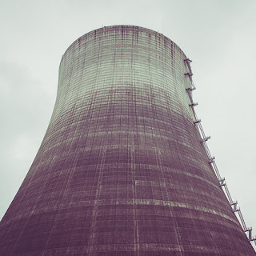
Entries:
<svg viewBox="0 0 256 256">
<path fill-rule="evenodd" d="M 211 154 L 256 235 L 256 1 L 1 1 L 0 218 L 50 121 L 68 46 L 102 26 L 144 26 L 192 59 L 194 101 Z"/>
</svg>

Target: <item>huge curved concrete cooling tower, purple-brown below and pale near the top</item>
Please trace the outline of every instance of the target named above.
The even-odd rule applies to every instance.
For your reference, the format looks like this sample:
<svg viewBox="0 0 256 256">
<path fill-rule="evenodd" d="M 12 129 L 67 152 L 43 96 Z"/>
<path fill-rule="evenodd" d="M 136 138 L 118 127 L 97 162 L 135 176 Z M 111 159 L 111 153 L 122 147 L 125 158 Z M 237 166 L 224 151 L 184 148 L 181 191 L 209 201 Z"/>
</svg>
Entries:
<svg viewBox="0 0 256 256">
<path fill-rule="evenodd" d="M 255 255 L 202 145 L 186 60 L 138 26 L 66 50 L 46 135 L 2 218 L 1 255 Z"/>
</svg>

